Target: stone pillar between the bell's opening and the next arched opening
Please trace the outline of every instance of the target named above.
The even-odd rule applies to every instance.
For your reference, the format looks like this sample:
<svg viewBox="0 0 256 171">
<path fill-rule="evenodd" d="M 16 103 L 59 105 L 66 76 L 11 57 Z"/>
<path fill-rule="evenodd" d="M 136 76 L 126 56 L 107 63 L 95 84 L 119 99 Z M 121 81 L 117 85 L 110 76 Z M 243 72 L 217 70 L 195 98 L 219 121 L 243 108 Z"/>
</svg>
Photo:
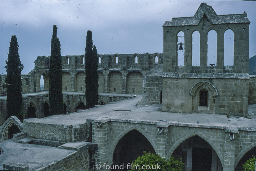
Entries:
<svg viewBox="0 0 256 171">
<path fill-rule="evenodd" d="M 192 66 L 192 34 L 189 31 L 184 32 L 184 66 Z"/>
</svg>

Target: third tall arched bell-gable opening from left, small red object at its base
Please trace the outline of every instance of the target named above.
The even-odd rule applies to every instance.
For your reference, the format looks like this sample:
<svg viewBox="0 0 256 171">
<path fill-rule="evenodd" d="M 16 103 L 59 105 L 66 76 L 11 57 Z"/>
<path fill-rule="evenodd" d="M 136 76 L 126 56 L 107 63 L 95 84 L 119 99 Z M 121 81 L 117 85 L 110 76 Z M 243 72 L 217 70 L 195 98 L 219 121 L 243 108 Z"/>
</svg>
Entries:
<svg viewBox="0 0 256 171">
<path fill-rule="evenodd" d="M 217 64 L 217 33 L 210 30 L 207 35 L 207 65 Z"/>
</svg>

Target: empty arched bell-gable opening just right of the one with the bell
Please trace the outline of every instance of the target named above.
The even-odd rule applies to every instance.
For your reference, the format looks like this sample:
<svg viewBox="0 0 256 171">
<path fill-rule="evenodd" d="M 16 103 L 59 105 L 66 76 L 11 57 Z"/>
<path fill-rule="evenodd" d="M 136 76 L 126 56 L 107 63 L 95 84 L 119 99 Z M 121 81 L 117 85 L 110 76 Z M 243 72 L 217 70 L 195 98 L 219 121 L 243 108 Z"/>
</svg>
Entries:
<svg viewBox="0 0 256 171">
<path fill-rule="evenodd" d="M 192 66 L 200 65 L 200 33 L 194 31 L 192 34 Z"/>
</svg>

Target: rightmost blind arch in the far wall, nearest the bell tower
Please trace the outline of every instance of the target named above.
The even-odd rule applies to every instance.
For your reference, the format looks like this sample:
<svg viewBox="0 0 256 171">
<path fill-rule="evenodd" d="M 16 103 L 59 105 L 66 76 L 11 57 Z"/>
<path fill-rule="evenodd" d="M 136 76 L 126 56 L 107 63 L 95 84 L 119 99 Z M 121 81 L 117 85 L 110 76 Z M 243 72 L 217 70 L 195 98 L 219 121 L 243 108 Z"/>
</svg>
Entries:
<svg viewBox="0 0 256 171">
<path fill-rule="evenodd" d="M 127 93 L 142 94 L 142 73 L 138 71 L 131 71 L 127 73 Z"/>
</svg>

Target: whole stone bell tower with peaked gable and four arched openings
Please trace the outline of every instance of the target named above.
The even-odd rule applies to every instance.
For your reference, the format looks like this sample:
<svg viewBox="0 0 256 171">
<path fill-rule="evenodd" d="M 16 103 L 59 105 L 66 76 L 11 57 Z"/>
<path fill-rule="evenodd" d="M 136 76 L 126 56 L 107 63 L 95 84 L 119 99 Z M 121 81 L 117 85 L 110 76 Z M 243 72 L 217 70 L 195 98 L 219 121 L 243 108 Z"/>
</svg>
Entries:
<svg viewBox="0 0 256 171">
<path fill-rule="evenodd" d="M 217 15 L 206 3 L 199 6 L 193 17 L 166 21 L 163 25 L 162 110 L 247 116 L 249 24 L 245 12 Z M 208 33 L 212 30 L 217 35 L 217 60 L 210 64 L 207 60 L 211 60 L 211 56 L 208 56 L 207 48 L 212 41 Z M 234 54 L 228 59 L 233 63 L 231 66 L 224 66 L 224 34 L 227 30 L 234 35 Z M 192 57 L 192 34 L 195 31 L 200 35 L 198 66 L 193 66 Z M 184 36 L 178 35 L 179 32 L 183 32 Z M 182 48 L 179 38 L 184 39 Z M 182 49 L 182 57 L 178 58 L 179 48 Z M 183 66 L 179 66 L 178 61 L 184 62 Z M 217 95 L 213 94 L 212 87 L 218 92 Z"/>
</svg>

